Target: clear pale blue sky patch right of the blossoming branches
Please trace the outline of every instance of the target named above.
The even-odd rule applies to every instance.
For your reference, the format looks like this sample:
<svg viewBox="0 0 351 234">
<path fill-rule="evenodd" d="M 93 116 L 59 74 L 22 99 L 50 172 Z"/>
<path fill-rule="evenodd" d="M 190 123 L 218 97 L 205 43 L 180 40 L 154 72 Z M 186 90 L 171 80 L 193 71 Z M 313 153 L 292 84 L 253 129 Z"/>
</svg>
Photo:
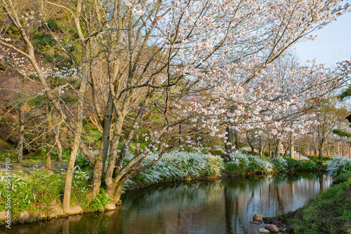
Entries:
<svg viewBox="0 0 351 234">
<path fill-rule="evenodd" d="M 326 67 L 335 67 L 336 62 L 350 60 L 351 57 L 351 13 L 345 13 L 322 29 L 312 32 L 317 34 L 314 41 L 296 43 L 295 54 L 302 64 L 315 59 L 325 63 Z"/>
</svg>

